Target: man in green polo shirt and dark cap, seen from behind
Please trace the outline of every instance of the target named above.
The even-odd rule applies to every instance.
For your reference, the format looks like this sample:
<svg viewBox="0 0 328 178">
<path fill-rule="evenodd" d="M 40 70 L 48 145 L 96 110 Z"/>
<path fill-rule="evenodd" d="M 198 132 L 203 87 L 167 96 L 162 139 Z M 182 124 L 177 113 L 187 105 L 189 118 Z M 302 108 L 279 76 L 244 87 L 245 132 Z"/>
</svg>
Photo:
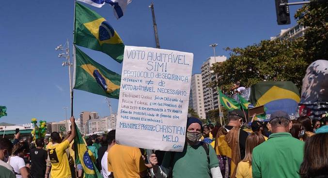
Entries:
<svg viewBox="0 0 328 178">
<path fill-rule="evenodd" d="M 253 149 L 253 178 L 299 178 L 304 142 L 289 133 L 292 122 L 286 112 L 272 113 L 269 123 L 272 134 Z"/>
</svg>

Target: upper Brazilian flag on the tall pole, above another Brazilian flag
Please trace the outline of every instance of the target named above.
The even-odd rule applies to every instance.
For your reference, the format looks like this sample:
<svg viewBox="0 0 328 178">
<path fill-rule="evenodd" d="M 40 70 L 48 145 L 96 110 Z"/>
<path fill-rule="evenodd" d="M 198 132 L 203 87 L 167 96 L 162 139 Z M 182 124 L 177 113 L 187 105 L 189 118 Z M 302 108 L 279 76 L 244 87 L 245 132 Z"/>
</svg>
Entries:
<svg viewBox="0 0 328 178">
<path fill-rule="evenodd" d="M 119 63 L 123 61 L 124 44 L 105 18 L 76 2 L 74 44 L 101 51 Z"/>
</svg>

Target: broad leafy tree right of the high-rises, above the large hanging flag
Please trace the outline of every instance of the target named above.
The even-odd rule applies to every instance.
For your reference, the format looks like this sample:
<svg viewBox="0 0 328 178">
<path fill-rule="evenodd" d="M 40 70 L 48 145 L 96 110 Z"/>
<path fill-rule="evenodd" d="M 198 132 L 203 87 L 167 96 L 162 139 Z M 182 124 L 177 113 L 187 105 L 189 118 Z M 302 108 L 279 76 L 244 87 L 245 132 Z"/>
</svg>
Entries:
<svg viewBox="0 0 328 178">
<path fill-rule="evenodd" d="M 230 90 L 240 81 L 249 87 L 260 81 L 292 81 L 298 88 L 309 63 L 302 57 L 302 41 L 261 41 L 245 48 L 227 48 L 230 58 L 213 64 L 217 74 L 212 86 Z"/>
</svg>

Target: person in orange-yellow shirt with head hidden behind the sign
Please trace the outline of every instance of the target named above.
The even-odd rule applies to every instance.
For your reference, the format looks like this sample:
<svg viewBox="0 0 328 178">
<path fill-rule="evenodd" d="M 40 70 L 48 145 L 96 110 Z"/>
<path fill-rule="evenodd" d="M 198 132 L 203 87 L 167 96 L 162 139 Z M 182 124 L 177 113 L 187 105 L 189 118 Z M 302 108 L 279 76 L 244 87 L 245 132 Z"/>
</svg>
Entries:
<svg viewBox="0 0 328 178">
<path fill-rule="evenodd" d="M 113 142 L 114 143 L 114 142 Z M 108 171 L 114 178 L 141 178 L 147 175 L 151 164 L 145 164 L 137 147 L 115 143 L 108 151 Z"/>
</svg>

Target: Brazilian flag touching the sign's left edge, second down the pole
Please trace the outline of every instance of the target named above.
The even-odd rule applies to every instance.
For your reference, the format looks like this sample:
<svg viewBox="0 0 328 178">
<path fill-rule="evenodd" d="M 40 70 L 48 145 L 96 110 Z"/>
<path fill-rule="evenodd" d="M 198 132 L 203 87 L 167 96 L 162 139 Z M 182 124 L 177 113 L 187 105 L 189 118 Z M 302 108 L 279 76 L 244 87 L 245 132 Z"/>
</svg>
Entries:
<svg viewBox="0 0 328 178">
<path fill-rule="evenodd" d="M 118 99 L 121 75 L 95 62 L 76 47 L 73 84 L 74 89 Z"/>
</svg>

